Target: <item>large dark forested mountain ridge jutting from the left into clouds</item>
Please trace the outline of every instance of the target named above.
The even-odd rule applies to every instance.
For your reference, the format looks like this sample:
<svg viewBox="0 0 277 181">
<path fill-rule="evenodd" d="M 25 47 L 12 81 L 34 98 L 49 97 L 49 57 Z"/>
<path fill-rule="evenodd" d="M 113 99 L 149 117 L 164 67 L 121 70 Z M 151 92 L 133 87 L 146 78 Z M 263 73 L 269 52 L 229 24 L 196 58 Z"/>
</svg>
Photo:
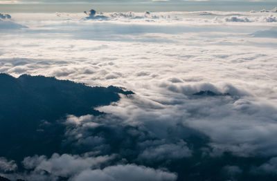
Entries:
<svg viewBox="0 0 277 181">
<path fill-rule="evenodd" d="M 93 109 L 133 94 L 115 86 L 91 87 L 55 77 L 0 74 L 0 156 L 22 160 L 33 154 L 64 153 L 66 115 L 101 115 Z M 48 126 L 41 130 L 40 125 Z M 55 126 L 51 126 L 55 125 Z"/>
</svg>

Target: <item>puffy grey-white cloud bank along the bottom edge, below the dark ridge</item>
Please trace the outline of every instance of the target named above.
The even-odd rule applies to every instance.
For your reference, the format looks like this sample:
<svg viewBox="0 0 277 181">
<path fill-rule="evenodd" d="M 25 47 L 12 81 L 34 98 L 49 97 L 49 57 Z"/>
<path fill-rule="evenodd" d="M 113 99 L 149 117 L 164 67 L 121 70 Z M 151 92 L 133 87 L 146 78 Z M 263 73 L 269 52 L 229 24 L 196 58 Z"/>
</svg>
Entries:
<svg viewBox="0 0 277 181">
<path fill-rule="evenodd" d="M 23 173 L 20 177 L 27 180 L 44 178 L 57 180 L 58 178 L 69 178 L 69 180 L 176 180 L 177 175 L 160 169 L 152 169 L 136 164 L 118 164 L 106 166 L 100 169 L 101 165 L 114 160 L 115 156 L 93 157 L 86 155 L 59 155 L 53 154 L 51 158 L 35 155 L 24 158 L 24 167 L 30 173 Z"/>
</svg>

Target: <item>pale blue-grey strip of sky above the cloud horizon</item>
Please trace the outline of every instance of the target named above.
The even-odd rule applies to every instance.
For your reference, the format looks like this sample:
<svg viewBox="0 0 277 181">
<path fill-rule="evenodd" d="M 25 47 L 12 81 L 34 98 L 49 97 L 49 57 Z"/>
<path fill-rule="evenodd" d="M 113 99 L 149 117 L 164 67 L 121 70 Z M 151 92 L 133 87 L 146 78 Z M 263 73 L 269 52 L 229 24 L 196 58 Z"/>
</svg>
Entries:
<svg viewBox="0 0 277 181">
<path fill-rule="evenodd" d="M 218 1 L 218 0 L 0 0 L 1 12 L 82 12 L 94 8 L 104 12 L 114 11 L 198 11 L 198 10 L 222 10 L 222 11 L 250 11 L 272 9 L 277 6 L 275 0 L 267 1 Z M 89 8 L 88 8 L 89 7 Z"/>
</svg>

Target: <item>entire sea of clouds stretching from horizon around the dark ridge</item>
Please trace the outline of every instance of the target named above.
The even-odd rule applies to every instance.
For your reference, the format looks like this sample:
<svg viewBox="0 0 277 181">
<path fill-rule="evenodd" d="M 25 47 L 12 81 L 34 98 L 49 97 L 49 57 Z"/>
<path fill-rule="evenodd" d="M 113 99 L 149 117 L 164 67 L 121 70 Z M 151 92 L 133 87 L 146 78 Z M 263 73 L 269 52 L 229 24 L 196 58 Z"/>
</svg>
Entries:
<svg viewBox="0 0 277 181">
<path fill-rule="evenodd" d="M 68 115 L 64 144 L 82 147 L 83 155 L 30 155 L 24 173 L 0 158 L 2 175 L 177 180 L 167 166 L 195 151 L 266 158 L 247 171 L 276 173 L 276 12 L 15 13 L 0 20 L 0 35 L 1 73 L 135 93 L 98 108 L 107 115 Z M 197 149 L 192 136 L 204 140 Z"/>
</svg>

